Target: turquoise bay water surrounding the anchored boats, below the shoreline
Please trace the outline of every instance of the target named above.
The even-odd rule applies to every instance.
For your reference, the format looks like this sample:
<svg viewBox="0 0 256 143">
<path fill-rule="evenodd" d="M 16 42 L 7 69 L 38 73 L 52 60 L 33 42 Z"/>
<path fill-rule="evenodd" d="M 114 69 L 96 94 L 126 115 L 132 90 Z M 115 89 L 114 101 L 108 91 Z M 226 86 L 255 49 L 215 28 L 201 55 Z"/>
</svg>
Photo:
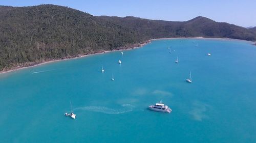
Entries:
<svg viewBox="0 0 256 143">
<path fill-rule="evenodd" d="M 157 40 L 0 74 L 1 142 L 255 142 L 255 55 L 244 41 Z M 160 100 L 173 112 L 147 109 Z"/>
</svg>

